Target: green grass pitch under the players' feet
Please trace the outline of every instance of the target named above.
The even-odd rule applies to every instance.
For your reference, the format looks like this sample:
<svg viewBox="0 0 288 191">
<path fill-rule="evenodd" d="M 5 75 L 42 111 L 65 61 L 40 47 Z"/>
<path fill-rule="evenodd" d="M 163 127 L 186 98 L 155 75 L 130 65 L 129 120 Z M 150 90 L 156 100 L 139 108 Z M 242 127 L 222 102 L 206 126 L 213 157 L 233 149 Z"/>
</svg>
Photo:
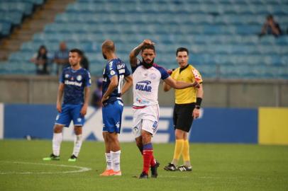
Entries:
<svg viewBox="0 0 288 191">
<path fill-rule="evenodd" d="M 160 161 L 159 176 L 148 180 L 133 178 L 142 170 L 135 143 L 122 143 L 121 147 L 123 175 L 100 177 L 106 167 L 102 142 L 85 141 L 77 162 L 68 162 L 72 142 L 62 142 L 60 161 L 42 161 L 51 153 L 51 141 L 2 140 L 0 190 L 288 190 L 288 146 L 192 144 L 191 173 L 163 170 L 172 159 L 174 144 L 153 144 Z M 79 170 L 66 166 L 92 170 L 62 173 Z M 31 174 L 21 174 L 26 172 Z"/>
</svg>

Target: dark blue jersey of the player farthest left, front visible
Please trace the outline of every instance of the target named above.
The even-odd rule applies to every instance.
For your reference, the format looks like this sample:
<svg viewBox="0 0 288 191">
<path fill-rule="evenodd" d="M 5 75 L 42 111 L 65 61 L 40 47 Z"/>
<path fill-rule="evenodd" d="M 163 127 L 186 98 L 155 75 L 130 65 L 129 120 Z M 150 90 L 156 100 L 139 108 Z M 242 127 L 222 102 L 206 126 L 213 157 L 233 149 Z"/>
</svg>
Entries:
<svg viewBox="0 0 288 191">
<path fill-rule="evenodd" d="M 65 84 L 63 104 L 83 104 L 84 88 L 91 86 L 91 75 L 86 69 L 68 67 L 63 69 L 60 83 Z"/>
</svg>

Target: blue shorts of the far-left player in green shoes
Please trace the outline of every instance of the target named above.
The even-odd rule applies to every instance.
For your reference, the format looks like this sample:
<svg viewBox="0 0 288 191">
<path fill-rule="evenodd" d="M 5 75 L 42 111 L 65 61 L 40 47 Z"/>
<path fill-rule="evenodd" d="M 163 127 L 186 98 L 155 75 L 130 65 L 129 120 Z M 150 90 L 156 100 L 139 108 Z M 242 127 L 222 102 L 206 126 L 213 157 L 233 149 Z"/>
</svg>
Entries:
<svg viewBox="0 0 288 191">
<path fill-rule="evenodd" d="M 84 116 L 80 114 L 82 106 L 83 106 L 82 104 L 79 105 L 63 104 L 62 112 L 58 112 L 55 124 L 65 125 L 65 127 L 69 127 L 70 122 L 73 120 L 74 126 L 83 126 L 85 119 Z"/>
</svg>

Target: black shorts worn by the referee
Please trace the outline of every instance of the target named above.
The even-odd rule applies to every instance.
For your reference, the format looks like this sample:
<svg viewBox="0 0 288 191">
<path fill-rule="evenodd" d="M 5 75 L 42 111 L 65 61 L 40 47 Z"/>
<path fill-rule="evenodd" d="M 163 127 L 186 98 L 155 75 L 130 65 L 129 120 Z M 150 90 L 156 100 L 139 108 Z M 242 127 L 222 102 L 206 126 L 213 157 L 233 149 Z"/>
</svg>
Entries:
<svg viewBox="0 0 288 191">
<path fill-rule="evenodd" d="M 192 112 L 194 108 L 195 103 L 175 103 L 173 111 L 174 129 L 181 129 L 184 132 L 189 132 L 193 122 Z"/>
</svg>

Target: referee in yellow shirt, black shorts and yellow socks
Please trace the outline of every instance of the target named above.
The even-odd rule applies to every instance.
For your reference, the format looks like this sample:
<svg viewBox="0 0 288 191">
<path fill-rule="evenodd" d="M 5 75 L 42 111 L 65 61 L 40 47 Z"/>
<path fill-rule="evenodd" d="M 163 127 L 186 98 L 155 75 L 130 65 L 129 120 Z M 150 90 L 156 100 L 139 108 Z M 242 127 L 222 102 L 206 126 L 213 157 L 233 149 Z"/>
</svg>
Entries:
<svg viewBox="0 0 288 191">
<path fill-rule="evenodd" d="M 173 111 L 173 122 L 175 128 L 175 151 L 173 160 L 165 166 L 165 170 L 192 171 L 189 156 L 188 132 L 194 119 L 199 117 L 201 101 L 203 98 L 203 85 L 201 74 L 194 66 L 188 64 L 189 51 L 187 48 L 179 47 L 176 51 L 176 59 L 179 67 L 172 71 L 171 77 L 177 81 L 200 83 L 199 88 L 175 89 L 175 106 Z M 170 86 L 164 83 L 164 91 L 170 91 Z M 183 165 L 177 166 L 180 156 Z"/>
</svg>

